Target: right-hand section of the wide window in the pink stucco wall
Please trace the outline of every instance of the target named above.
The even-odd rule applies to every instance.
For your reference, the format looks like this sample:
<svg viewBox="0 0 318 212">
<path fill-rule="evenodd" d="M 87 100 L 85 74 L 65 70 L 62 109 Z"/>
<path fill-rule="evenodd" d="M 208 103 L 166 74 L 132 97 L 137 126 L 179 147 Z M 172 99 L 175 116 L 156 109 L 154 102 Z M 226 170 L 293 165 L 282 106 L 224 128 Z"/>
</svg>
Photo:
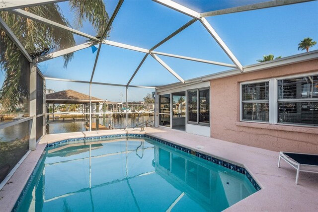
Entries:
<svg viewBox="0 0 318 212">
<path fill-rule="evenodd" d="M 318 75 L 281 79 L 278 123 L 318 125 Z"/>
</svg>

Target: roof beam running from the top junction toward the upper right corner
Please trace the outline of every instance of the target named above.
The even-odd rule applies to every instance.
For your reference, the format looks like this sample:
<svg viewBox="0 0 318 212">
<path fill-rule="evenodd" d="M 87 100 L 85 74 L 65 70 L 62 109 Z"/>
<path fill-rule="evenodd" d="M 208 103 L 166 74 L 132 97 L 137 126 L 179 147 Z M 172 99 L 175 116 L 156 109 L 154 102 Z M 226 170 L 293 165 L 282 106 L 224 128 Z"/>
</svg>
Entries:
<svg viewBox="0 0 318 212">
<path fill-rule="evenodd" d="M 208 16 L 215 16 L 215 15 L 223 15 L 223 14 L 229 14 L 229 13 L 235 13 L 235 12 L 264 9 L 264 8 L 275 7 L 275 6 L 283 6 L 283 5 L 294 4 L 294 3 L 303 3 L 307 1 L 313 1 L 313 0 L 271 0 L 271 1 L 261 2 L 261 3 L 244 5 L 244 6 L 237 6 L 232 8 L 203 12 L 203 13 L 200 13 L 200 16 L 208 17 Z"/>
</svg>

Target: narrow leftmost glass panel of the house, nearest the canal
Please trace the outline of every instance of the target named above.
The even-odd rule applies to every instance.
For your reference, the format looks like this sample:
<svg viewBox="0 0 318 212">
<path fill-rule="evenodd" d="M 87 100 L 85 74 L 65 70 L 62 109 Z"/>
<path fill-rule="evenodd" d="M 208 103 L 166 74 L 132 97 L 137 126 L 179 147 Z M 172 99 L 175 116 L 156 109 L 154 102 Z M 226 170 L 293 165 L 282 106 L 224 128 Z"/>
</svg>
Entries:
<svg viewBox="0 0 318 212">
<path fill-rule="evenodd" d="M 159 125 L 170 127 L 170 94 L 159 96 Z"/>
</svg>

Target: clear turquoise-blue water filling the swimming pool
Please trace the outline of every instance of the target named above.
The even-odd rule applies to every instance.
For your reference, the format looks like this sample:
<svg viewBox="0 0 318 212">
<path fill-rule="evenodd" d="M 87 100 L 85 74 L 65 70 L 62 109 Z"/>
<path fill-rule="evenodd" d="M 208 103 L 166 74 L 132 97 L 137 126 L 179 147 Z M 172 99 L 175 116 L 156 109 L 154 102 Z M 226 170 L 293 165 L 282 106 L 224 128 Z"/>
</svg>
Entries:
<svg viewBox="0 0 318 212">
<path fill-rule="evenodd" d="M 219 212 L 256 192 L 241 173 L 148 138 L 48 147 L 17 211 Z"/>
</svg>

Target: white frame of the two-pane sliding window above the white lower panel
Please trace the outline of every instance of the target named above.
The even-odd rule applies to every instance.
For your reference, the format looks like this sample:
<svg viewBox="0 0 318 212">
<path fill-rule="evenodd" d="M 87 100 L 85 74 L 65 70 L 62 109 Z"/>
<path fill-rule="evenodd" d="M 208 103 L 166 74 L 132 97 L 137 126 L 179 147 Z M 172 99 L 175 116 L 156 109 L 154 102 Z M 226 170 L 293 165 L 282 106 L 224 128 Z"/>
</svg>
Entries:
<svg viewBox="0 0 318 212">
<path fill-rule="evenodd" d="M 200 90 L 209 90 L 209 123 L 202 123 L 200 122 Z M 189 121 L 189 91 L 197 91 L 197 121 Z M 201 126 L 208 126 L 210 127 L 211 125 L 211 88 L 210 87 L 202 87 L 202 88 L 194 88 L 194 89 L 188 89 L 186 90 L 186 96 L 187 96 L 187 102 L 186 102 L 186 119 L 187 119 L 187 124 L 191 125 L 201 125 Z"/>
</svg>

